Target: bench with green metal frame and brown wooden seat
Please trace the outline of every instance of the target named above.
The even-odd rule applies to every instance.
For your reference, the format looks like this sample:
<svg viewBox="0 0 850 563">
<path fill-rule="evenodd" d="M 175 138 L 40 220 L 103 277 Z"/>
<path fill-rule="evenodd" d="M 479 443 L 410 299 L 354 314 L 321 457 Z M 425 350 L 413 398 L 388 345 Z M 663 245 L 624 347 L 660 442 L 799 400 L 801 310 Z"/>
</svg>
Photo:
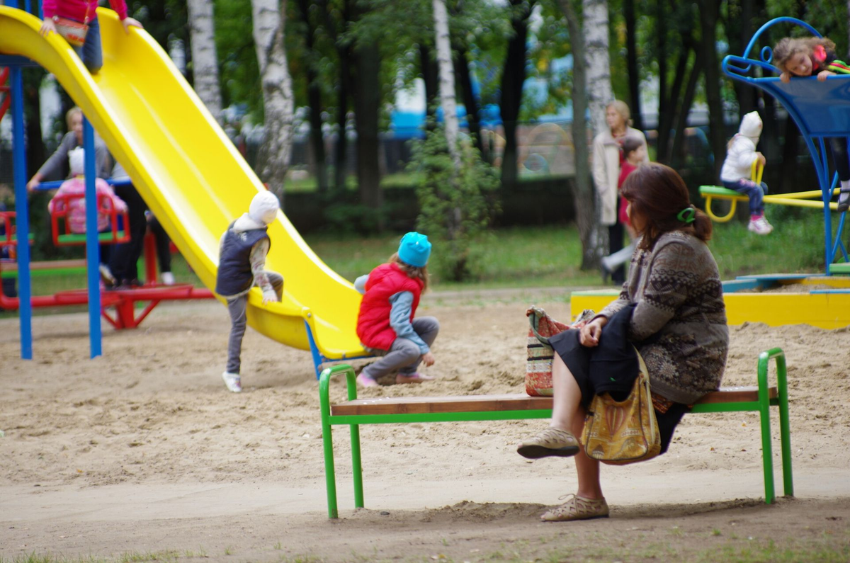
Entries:
<svg viewBox="0 0 850 563">
<path fill-rule="evenodd" d="M 776 364 L 777 384 L 768 385 L 768 364 Z M 348 401 L 331 405 L 328 388 L 331 378 L 341 373 L 348 385 Z M 339 364 L 329 367 L 319 379 L 322 442 L 325 449 L 327 515 L 337 518 L 337 479 L 333 460 L 331 427 L 348 424 L 351 430 L 351 460 L 354 475 L 354 506 L 363 508 L 363 469 L 360 458 L 360 424 L 438 423 L 481 420 L 517 420 L 552 416 L 550 397 L 524 394 L 468 395 L 450 397 L 378 397 L 358 399 L 354 368 Z M 779 440 L 782 451 L 782 476 L 785 496 L 794 496 L 791 475 L 791 430 L 788 424 L 788 384 L 785 353 L 774 348 L 758 356 L 757 387 L 726 387 L 709 393 L 694 405 L 692 412 L 759 413 L 762 424 L 762 463 L 764 502 L 773 503 L 773 449 L 770 434 L 770 407 L 779 407 Z"/>
</svg>

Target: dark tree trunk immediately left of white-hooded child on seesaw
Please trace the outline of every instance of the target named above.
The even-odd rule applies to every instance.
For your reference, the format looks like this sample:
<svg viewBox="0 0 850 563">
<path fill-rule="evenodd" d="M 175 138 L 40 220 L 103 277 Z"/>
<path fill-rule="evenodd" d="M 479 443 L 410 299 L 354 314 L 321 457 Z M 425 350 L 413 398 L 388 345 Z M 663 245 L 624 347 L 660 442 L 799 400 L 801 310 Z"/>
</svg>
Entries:
<svg viewBox="0 0 850 563">
<path fill-rule="evenodd" d="M 720 17 L 720 4 L 717 0 L 700 0 L 699 5 L 702 56 L 697 60 L 701 60 L 705 65 L 708 133 L 711 151 L 714 153 L 714 175 L 719 176 L 726 158 L 726 120 L 720 94 L 720 61 L 717 60 L 717 19 Z"/>
</svg>

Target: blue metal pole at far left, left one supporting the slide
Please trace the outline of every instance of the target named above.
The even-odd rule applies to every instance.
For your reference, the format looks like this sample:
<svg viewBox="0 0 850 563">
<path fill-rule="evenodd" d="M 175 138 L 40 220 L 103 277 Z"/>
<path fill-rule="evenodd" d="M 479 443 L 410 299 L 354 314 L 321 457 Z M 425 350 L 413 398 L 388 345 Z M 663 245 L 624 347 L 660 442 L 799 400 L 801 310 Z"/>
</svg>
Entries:
<svg viewBox="0 0 850 563">
<path fill-rule="evenodd" d="M 9 69 L 12 96 L 12 162 L 14 212 L 18 225 L 18 317 L 20 357 L 32 359 L 32 285 L 30 276 L 30 210 L 26 201 L 26 146 L 24 145 L 24 77 L 20 66 Z"/>
</svg>

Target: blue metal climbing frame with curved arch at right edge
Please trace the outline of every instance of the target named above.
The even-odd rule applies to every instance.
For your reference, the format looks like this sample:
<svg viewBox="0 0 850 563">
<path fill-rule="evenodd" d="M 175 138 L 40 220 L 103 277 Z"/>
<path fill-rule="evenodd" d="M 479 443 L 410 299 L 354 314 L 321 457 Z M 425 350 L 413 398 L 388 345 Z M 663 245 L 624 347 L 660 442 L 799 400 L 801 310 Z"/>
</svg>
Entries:
<svg viewBox="0 0 850 563">
<path fill-rule="evenodd" d="M 837 173 L 830 174 L 825 139 L 850 136 L 850 77 L 828 77 L 826 83 L 818 82 L 815 77 L 795 78 L 790 83 L 783 83 L 778 76 L 755 76 L 757 69 L 779 75 L 779 69 L 770 64 L 774 55 L 770 47 L 763 47 L 759 51 L 759 58 L 751 56 L 751 52 L 756 47 L 759 37 L 768 28 L 783 23 L 801 26 L 814 37 L 822 37 L 805 21 L 789 17 L 774 18 L 756 31 L 750 43 L 747 44 L 743 56 L 730 54 L 723 59 L 723 72 L 733 80 L 745 82 L 772 95 L 785 107 L 788 115 L 800 129 L 800 134 L 812 155 L 824 201 L 825 272 L 826 275 L 830 275 L 830 264 L 836 261 L 839 252 L 845 262 L 850 262 L 850 258 L 847 257 L 847 249 L 842 242 L 846 212 L 841 214 L 835 236 L 832 234 L 832 217 L 830 208 L 826 204 L 832 198 L 838 176 Z"/>
</svg>

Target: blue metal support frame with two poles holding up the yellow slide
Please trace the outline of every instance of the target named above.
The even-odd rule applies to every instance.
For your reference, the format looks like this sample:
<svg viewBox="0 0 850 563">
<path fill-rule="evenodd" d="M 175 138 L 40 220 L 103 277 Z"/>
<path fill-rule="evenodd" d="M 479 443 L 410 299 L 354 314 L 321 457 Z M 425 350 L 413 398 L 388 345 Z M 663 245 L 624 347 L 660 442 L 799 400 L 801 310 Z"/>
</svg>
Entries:
<svg viewBox="0 0 850 563">
<path fill-rule="evenodd" d="M 9 8 L 17 9 L 18 0 L 7 0 Z M 41 2 L 36 2 L 37 15 L 41 17 Z M 31 0 L 25 0 L 24 7 L 31 13 Z M 24 129 L 24 82 L 22 69 L 25 66 L 38 66 L 37 63 L 16 55 L 0 54 L 0 66 L 9 67 L 9 95 L 12 96 L 12 167 L 14 177 L 15 225 L 18 232 L 18 317 L 20 321 L 20 357 L 32 359 L 32 282 L 30 273 L 30 247 L 26 244 L 30 236 L 30 213 L 26 196 L 26 134 Z M 88 329 L 91 357 L 102 354 L 102 334 L 100 329 L 100 248 L 97 232 L 97 205 L 94 188 L 96 178 L 94 154 L 94 129 L 88 120 L 83 119 L 83 143 L 86 151 L 86 252 L 88 256 Z"/>
</svg>

